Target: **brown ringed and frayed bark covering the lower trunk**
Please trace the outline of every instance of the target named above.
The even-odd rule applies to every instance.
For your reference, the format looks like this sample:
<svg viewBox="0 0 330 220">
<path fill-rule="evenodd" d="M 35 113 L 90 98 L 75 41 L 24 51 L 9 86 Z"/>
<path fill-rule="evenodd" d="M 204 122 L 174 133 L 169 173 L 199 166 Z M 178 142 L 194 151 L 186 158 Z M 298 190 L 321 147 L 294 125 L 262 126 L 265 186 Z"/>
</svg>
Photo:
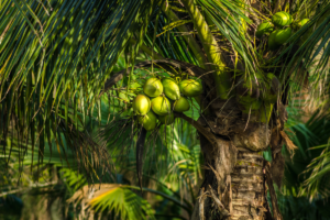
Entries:
<svg viewBox="0 0 330 220">
<path fill-rule="evenodd" d="M 191 219 L 202 219 L 200 210 L 204 210 L 206 220 L 266 219 L 264 160 L 261 152 L 238 151 L 231 141 L 219 142 L 222 145 L 212 148 L 201 138 L 206 165 L 209 167 L 201 187 L 207 189 L 208 197 L 202 202 L 202 209 L 199 207 L 201 204 L 196 204 Z M 229 169 L 223 169 L 223 164 L 227 168 L 232 166 L 230 174 L 227 173 Z"/>
</svg>

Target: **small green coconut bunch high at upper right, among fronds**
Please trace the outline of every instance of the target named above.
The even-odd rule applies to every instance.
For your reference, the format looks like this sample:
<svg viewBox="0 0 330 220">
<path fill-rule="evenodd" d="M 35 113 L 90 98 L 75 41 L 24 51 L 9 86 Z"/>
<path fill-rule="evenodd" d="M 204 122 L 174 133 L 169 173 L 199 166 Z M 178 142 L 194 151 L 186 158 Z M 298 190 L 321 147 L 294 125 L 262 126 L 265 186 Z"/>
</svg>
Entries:
<svg viewBox="0 0 330 220">
<path fill-rule="evenodd" d="M 264 21 L 261 23 L 255 32 L 256 37 L 262 37 L 264 34 L 268 35 L 268 48 L 271 51 L 277 50 L 280 45 L 292 36 L 293 30 L 304 26 L 309 19 L 293 22 L 293 16 L 285 12 L 279 11 L 272 16 L 272 22 Z"/>
</svg>

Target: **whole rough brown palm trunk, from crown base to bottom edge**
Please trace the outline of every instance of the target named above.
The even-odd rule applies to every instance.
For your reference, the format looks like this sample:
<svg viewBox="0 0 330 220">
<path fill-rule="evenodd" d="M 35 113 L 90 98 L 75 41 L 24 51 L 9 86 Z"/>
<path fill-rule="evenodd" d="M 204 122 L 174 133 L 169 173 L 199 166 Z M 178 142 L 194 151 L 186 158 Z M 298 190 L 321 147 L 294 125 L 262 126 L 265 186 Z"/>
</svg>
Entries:
<svg viewBox="0 0 330 220">
<path fill-rule="evenodd" d="M 219 113 L 217 119 L 198 120 L 215 134 L 216 141 L 199 133 L 207 168 L 193 220 L 273 219 L 266 200 L 266 163 L 262 156 L 270 145 L 271 128 L 256 122 L 253 114 L 249 120 L 246 123 L 242 118 L 229 118 L 227 122 L 231 125 L 228 125 L 223 119 L 219 120 Z M 234 132 L 229 129 L 233 125 Z"/>
</svg>

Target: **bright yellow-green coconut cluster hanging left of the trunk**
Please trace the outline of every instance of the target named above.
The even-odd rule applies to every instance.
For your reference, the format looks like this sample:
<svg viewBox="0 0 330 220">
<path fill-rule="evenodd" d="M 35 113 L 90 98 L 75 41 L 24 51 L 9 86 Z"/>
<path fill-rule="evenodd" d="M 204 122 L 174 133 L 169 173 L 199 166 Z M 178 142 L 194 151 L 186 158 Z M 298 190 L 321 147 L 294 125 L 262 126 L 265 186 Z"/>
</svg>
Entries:
<svg viewBox="0 0 330 220">
<path fill-rule="evenodd" d="M 184 79 L 179 84 L 174 78 L 148 78 L 143 92 L 138 95 L 132 103 L 138 121 L 147 131 L 156 128 L 157 120 L 163 124 L 174 122 L 173 111 L 184 112 L 190 109 L 188 97 L 196 97 L 202 92 L 200 82 Z"/>
</svg>

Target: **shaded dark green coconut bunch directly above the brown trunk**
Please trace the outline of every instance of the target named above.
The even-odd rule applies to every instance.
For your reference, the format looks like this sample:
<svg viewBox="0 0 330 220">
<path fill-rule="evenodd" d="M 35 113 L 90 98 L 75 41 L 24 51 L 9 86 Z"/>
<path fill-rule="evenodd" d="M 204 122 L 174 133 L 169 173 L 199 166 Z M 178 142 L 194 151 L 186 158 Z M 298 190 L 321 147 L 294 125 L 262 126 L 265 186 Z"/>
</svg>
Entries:
<svg viewBox="0 0 330 220">
<path fill-rule="evenodd" d="M 278 92 L 279 81 L 274 74 L 255 73 L 239 81 L 237 101 L 243 113 L 255 116 L 256 121 L 268 122 Z"/>
</svg>

